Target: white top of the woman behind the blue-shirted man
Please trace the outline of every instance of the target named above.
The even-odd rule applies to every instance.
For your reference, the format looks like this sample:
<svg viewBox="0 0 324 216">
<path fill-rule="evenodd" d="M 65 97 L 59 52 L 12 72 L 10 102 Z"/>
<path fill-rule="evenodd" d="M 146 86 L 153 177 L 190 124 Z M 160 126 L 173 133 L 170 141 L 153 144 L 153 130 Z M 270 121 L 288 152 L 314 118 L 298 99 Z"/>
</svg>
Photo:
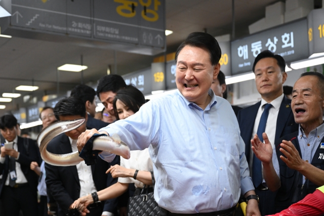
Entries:
<svg viewBox="0 0 324 216">
<path fill-rule="evenodd" d="M 141 171 L 153 171 L 153 163 L 148 149 L 131 151 L 131 158 L 126 160 L 120 157 L 120 166 L 127 169 L 138 169 Z M 120 183 L 135 183 L 136 188 L 143 188 L 144 184 L 133 177 L 118 177 Z"/>
</svg>

